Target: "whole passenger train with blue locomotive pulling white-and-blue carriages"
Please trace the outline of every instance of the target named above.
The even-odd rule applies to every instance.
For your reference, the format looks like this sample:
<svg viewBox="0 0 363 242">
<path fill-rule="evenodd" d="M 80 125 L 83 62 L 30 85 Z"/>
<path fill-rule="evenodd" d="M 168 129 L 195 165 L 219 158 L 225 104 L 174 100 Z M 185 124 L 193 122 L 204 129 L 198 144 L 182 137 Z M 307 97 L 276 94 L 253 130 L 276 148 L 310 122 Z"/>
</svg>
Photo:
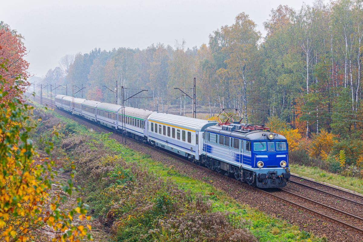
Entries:
<svg viewBox="0 0 363 242">
<path fill-rule="evenodd" d="M 56 95 L 55 104 L 254 187 L 282 188 L 290 180 L 287 140 L 264 125 L 234 121 L 232 115 L 217 122 L 66 95 Z"/>
</svg>

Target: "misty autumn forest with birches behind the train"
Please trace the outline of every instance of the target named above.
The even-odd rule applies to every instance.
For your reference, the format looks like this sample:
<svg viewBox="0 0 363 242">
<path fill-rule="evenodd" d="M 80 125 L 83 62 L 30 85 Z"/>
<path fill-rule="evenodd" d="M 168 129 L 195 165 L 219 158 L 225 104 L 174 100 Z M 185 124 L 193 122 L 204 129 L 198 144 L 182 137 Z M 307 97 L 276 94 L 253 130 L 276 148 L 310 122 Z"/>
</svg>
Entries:
<svg viewBox="0 0 363 242">
<path fill-rule="evenodd" d="M 143 96 L 150 98 L 129 99 L 127 106 L 188 115 L 191 99 L 174 88 L 191 94 L 195 77 L 199 118 L 213 119 L 220 108 L 238 108 L 243 123 L 295 130 L 286 135 L 297 149 L 309 149 L 314 138 L 334 140 L 318 140 L 328 145 L 315 155 L 311 151 L 310 157 L 335 158 L 340 167 L 363 161 L 362 2 L 318 0 L 297 10 L 280 5 L 264 28 L 266 36 L 242 12 L 199 47 L 186 48 L 183 40 L 174 47 L 95 48 L 63 57 L 43 82 L 67 85 L 68 95 L 72 85 L 83 85 L 85 98 L 115 103 L 114 93 L 102 86 L 113 90 L 117 81 L 127 88 L 126 98 L 137 89 L 148 90 Z M 62 88 L 56 91 L 65 94 Z M 321 131 L 327 135 L 319 135 Z"/>
</svg>

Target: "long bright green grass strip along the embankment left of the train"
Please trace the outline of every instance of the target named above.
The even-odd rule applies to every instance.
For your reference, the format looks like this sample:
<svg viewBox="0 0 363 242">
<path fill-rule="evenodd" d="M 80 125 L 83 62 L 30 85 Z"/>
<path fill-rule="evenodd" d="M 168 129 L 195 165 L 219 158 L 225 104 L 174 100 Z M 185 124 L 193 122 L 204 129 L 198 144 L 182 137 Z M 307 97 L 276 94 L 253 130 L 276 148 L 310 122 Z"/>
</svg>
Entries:
<svg viewBox="0 0 363 242">
<path fill-rule="evenodd" d="M 237 213 L 246 221 L 249 221 L 246 227 L 258 238 L 258 241 L 322 241 L 311 233 L 304 230 L 300 231 L 297 226 L 292 226 L 284 220 L 273 218 L 257 209 L 251 208 L 249 205 L 238 203 L 236 200 L 228 196 L 227 193 L 216 189 L 211 184 L 182 175 L 172 166 L 167 167 L 163 163 L 150 159 L 149 155 L 124 147 L 118 141 L 110 139 L 106 134 L 99 134 L 97 132 L 90 133 L 85 126 L 79 125 L 74 120 L 65 118 L 56 112 L 54 112 L 54 115 L 57 118 L 60 118 L 64 123 L 68 123 L 68 125 L 75 128 L 78 134 L 87 134 L 93 136 L 95 141 L 103 142 L 105 147 L 119 154 L 119 156 L 122 156 L 126 162 L 136 162 L 140 165 L 147 166 L 150 171 L 157 173 L 160 177 L 164 179 L 172 179 L 176 184 L 178 184 L 179 188 L 190 190 L 191 194 L 201 193 L 210 195 L 213 204 L 213 212 L 231 211 Z M 203 180 L 209 181 L 210 179 L 205 177 Z M 272 231 L 274 231 L 274 233 L 272 233 Z"/>
</svg>

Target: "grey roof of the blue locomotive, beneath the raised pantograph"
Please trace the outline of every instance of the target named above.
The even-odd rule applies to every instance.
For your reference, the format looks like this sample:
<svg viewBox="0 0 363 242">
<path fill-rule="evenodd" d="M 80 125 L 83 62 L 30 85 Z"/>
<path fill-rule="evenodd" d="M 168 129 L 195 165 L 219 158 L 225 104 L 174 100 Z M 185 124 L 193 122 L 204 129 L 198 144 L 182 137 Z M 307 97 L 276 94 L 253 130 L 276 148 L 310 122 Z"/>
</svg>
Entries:
<svg viewBox="0 0 363 242">
<path fill-rule="evenodd" d="M 239 130 L 227 131 L 227 130 L 222 130 L 222 126 L 214 125 L 206 128 L 205 131 L 215 132 L 221 135 L 229 135 L 246 140 L 269 140 L 267 138 L 267 135 L 273 133 L 275 134 L 275 138 L 273 140 L 286 140 L 285 136 L 283 135 L 276 134 L 274 132 L 261 131 L 261 130 L 251 130 L 249 132 L 239 131 Z"/>
</svg>

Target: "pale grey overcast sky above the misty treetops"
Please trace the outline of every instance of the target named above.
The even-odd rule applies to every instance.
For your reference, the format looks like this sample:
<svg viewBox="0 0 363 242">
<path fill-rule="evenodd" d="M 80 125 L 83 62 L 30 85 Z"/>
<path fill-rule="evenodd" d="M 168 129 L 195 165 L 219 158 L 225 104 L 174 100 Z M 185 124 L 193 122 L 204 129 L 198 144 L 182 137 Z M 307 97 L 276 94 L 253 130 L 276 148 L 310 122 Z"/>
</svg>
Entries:
<svg viewBox="0 0 363 242">
<path fill-rule="evenodd" d="M 93 48 L 144 49 L 153 43 L 187 47 L 208 43 L 208 36 L 246 12 L 265 34 L 271 9 L 299 9 L 313 0 L 13 0 L 3 1 L 0 20 L 25 37 L 29 71 L 45 75 L 65 54 Z"/>
</svg>

